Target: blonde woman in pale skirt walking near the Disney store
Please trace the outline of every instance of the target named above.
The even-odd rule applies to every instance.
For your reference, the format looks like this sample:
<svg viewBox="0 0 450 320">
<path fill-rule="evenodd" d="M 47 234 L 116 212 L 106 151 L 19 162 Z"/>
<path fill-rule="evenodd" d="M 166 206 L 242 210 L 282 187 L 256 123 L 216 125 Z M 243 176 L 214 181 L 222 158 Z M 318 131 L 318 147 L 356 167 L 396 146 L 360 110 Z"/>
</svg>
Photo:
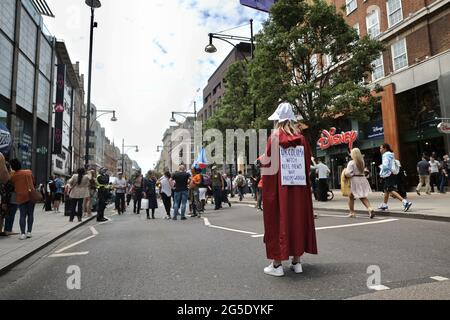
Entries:
<svg viewBox="0 0 450 320">
<path fill-rule="evenodd" d="M 349 218 L 356 218 L 355 199 L 361 200 L 364 206 L 369 210 L 370 219 L 375 218 L 375 211 L 369 202 L 369 194 L 372 192 L 369 181 L 364 175 L 364 158 L 361 150 L 354 148 L 351 152 L 352 160 L 345 169 L 346 177 L 350 178 L 350 195 L 348 206 L 350 209 Z"/>
</svg>

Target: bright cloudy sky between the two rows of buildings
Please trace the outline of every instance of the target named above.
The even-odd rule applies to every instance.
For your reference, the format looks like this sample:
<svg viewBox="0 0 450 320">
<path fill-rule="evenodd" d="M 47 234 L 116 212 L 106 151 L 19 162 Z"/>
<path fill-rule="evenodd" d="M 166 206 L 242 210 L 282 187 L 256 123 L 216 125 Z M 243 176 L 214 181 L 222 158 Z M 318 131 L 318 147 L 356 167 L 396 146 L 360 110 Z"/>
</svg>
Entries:
<svg viewBox="0 0 450 320">
<path fill-rule="evenodd" d="M 47 2 L 55 18 L 45 18 L 45 25 L 64 40 L 72 62 L 80 62 L 87 89 L 90 9 L 83 0 Z M 215 40 L 218 52 L 206 53 L 208 33 L 248 24 L 250 19 L 255 20 L 256 33 L 268 16 L 239 0 L 101 2 L 95 11 L 92 103 L 117 111 L 118 122 L 110 122 L 110 116 L 99 121 L 119 148 L 122 139 L 139 146 L 139 153 L 126 151 L 147 171 L 160 157 L 156 149 L 172 124 L 172 111 L 193 112 L 194 100 L 200 110 L 208 78 L 232 49 Z M 250 27 L 225 33 L 250 37 Z"/>
</svg>

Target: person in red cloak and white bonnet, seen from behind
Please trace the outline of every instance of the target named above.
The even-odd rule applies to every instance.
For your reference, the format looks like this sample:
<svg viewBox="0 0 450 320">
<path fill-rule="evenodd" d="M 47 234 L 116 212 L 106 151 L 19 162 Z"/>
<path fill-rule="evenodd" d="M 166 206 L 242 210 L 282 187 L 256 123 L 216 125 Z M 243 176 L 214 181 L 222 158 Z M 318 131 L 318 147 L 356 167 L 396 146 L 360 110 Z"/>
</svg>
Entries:
<svg viewBox="0 0 450 320">
<path fill-rule="evenodd" d="M 272 143 L 279 141 L 279 146 L 273 152 L 280 154 L 280 148 L 304 147 L 305 173 L 309 177 L 311 149 L 307 139 L 295 125 L 296 116 L 292 105 L 282 103 L 269 118 L 277 121 L 275 140 L 269 138 L 264 168 L 263 201 L 264 201 L 264 243 L 267 258 L 273 262 L 264 269 L 264 273 L 282 277 L 284 270 L 282 262 L 292 258 L 290 269 L 302 273 L 300 258 L 304 253 L 317 254 L 316 231 L 311 195 L 311 183 L 306 179 L 306 185 L 283 185 L 281 178 L 280 156 L 272 157 Z M 278 139 L 277 139 L 278 138 Z M 275 151 L 276 150 L 276 151 Z M 276 171 L 270 172 L 267 163 L 278 161 Z M 273 163 L 270 163 L 271 167 Z"/>
</svg>

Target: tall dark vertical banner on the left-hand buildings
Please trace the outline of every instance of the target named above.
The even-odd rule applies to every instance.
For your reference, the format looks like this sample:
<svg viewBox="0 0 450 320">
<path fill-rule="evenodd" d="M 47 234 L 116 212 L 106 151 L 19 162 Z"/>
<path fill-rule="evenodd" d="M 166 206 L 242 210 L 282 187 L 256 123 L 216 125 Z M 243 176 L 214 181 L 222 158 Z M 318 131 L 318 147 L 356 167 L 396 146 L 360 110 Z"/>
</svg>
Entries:
<svg viewBox="0 0 450 320">
<path fill-rule="evenodd" d="M 64 85 L 66 66 L 59 64 L 56 75 L 55 130 L 53 131 L 53 154 L 62 153 L 64 119 Z"/>
</svg>

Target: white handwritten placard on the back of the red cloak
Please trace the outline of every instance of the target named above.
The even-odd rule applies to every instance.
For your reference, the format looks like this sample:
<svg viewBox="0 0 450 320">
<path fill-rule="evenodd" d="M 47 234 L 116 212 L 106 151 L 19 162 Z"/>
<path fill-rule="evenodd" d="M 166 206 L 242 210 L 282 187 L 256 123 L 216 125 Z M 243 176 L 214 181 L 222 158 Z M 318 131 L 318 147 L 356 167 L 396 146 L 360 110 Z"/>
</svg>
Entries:
<svg viewBox="0 0 450 320">
<path fill-rule="evenodd" d="M 280 147 L 281 185 L 306 186 L 305 147 Z"/>
</svg>

